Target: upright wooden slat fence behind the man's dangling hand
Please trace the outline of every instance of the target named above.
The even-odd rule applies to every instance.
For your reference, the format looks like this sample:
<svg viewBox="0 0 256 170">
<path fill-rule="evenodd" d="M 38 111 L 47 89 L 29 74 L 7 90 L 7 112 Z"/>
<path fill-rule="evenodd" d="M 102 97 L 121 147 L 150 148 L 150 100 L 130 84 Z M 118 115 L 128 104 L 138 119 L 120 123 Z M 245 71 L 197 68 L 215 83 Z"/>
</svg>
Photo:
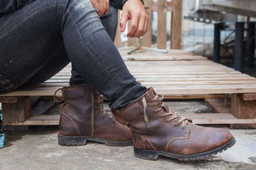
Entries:
<svg viewBox="0 0 256 170">
<path fill-rule="evenodd" d="M 147 10 L 149 25 L 152 21 L 152 12 L 157 11 L 157 48 L 166 49 L 166 12 L 172 12 L 171 22 L 171 49 L 181 49 L 182 38 L 182 0 L 172 0 L 167 2 L 166 0 L 144 0 L 144 6 Z M 129 24 L 128 24 L 129 25 Z M 121 47 L 120 40 L 120 28 L 118 23 L 118 29 L 116 31 L 115 45 Z M 132 46 L 135 43 L 136 38 L 128 38 L 128 46 Z M 147 34 L 142 38 L 143 46 L 151 46 L 152 44 L 152 32 L 148 30 Z"/>
</svg>

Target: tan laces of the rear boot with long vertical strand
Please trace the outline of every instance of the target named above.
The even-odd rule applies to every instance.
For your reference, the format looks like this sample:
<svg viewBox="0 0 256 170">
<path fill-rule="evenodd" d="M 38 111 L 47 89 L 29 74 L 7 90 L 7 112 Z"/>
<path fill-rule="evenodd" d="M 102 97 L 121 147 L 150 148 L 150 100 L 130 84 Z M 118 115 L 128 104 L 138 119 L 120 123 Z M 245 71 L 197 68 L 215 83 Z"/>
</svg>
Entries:
<svg viewBox="0 0 256 170">
<path fill-rule="evenodd" d="M 97 113 L 102 113 L 102 117 L 105 117 L 108 115 L 109 120 L 112 118 L 111 115 L 106 113 L 103 107 L 103 99 L 100 98 L 100 96 L 97 96 L 95 99 L 93 92 L 91 94 L 91 101 L 92 101 L 92 112 L 91 112 L 91 123 L 92 123 L 92 136 L 94 134 L 94 110 L 97 110 Z M 96 104 L 95 104 L 96 103 Z"/>
</svg>

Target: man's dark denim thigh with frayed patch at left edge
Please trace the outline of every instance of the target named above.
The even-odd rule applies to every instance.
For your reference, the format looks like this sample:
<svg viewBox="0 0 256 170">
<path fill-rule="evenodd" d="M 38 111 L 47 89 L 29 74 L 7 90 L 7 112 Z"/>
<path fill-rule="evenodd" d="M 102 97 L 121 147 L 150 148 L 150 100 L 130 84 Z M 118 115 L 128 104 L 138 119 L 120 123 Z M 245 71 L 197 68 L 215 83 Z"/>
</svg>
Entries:
<svg viewBox="0 0 256 170">
<path fill-rule="evenodd" d="M 0 71 L 11 80 L 0 78 L 2 92 L 42 83 L 70 62 L 54 6 L 54 1 L 35 1 L 0 18 Z"/>
</svg>

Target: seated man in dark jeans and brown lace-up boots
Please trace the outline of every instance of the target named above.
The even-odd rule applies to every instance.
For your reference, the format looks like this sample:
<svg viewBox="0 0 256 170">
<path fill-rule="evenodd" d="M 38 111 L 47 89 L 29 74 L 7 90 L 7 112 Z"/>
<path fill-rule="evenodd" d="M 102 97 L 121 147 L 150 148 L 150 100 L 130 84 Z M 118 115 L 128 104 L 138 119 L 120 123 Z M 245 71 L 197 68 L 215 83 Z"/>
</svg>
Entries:
<svg viewBox="0 0 256 170">
<path fill-rule="evenodd" d="M 117 9 L 121 30 L 140 37 L 148 17 L 140 0 L 1 0 L 0 92 L 37 85 L 72 63 L 70 87 L 63 87 L 59 144 L 87 140 L 134 146 L 136 157 L 159 155 L 195 160 L 236 143 L 223 129 L 200 127 L 179 117 L 129 73 L 113 39 Z M 104 14 L 104 15 L 103 15 Z M 90 83 L 90 84 L 88 84 Z M 113 118 L 99 93 L 109 99 Z M 118 122 L 116 121 L 118 120 Z M 129 127 L 129 128 L 128 128 Z"/>
</svg>

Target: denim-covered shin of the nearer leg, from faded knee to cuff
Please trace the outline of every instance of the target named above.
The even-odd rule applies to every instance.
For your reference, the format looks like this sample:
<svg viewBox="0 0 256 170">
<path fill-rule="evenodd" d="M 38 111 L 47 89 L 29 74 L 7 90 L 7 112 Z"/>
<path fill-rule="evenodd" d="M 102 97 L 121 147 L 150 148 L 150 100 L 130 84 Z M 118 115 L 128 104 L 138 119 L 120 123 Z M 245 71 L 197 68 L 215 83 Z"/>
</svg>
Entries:
<svg viewBox="0 0 256 170">
<path fill-rule="evenodd" d="M 108 97 L 111 108 L 122 108 L 146 92 L 129 73 L 90 1 L 70 1 L 63 17 L 63 41 L 73 67 Z"/>
</svg>

